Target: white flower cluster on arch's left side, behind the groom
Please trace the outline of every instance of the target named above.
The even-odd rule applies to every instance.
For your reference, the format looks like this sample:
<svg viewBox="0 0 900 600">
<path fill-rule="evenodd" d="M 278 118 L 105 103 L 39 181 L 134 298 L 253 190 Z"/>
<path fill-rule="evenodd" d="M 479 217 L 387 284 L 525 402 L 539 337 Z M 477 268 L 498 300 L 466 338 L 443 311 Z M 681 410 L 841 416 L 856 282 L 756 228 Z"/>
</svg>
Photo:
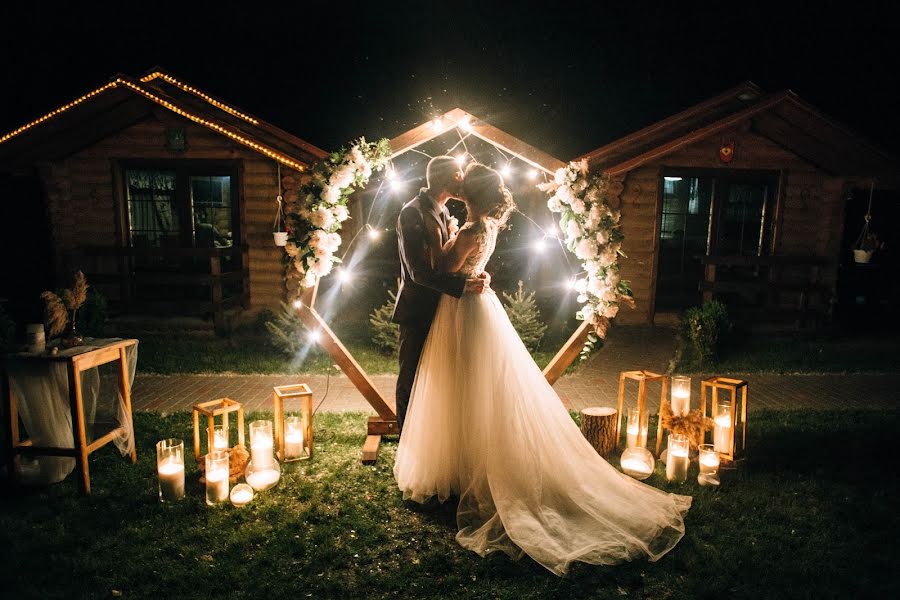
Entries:
<svg viewBox="0 0 900 600">
<path fill-rule="evenodd" d="M 333 152 L 316 164 L 300 188 L 297 210 L 287 214 L 287 260 L 300 275 L 300 289 L 312 287 L 328 275 L 341 245 L 340 230 L 350 218 L 347 202 L 364 187 L 391 155 L 388 140 L 359 138 L 350 150 Z"/>
</svg>

